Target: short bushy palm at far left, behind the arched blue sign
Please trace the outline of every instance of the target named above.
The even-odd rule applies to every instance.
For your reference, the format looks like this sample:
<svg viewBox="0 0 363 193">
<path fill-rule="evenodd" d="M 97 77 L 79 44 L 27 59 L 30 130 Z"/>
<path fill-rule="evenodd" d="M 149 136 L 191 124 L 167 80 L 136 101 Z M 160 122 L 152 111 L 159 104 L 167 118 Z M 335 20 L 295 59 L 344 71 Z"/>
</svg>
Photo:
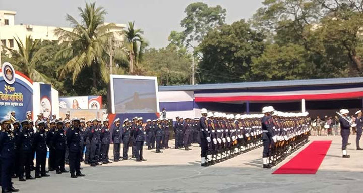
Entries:
<svg viewBox="0 0 363 193">
<path fill-rule="evenodd" d="M 40 47 L 41 40 L 33 40 L 31 36 L 25 38 L 25 45 L 19 37 L 15 38 L 19 50 L 5 47 L 11 52 L 11 60 L 17 70 L 28 76 L 33 81 L 50 82 L 49 78 L 37 69 L 49 67 L 52 61 L 44 61 L 50 46 Z M 44 69 L 44 68 L 43 68 Z M 49 69 L 50 70 L 50 69 Z"/>
</svg>

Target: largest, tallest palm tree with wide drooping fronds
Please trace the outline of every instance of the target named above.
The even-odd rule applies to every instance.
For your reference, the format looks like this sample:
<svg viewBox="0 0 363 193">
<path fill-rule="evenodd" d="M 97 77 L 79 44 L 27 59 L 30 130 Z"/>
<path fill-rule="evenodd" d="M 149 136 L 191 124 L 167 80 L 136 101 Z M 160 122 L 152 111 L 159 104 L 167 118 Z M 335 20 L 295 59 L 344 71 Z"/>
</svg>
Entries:
<svg viewBox="0 0 363 193">
<path fill-rule="evenodd" d="M 72 73 L 72 81 L 75 83 L 77 76 L 86 67 L 92 68 L 93 87 L 97 86 L 97 78 L 100 76 L 104 82 L 109 81 L 108 46 L 109 38 L 114 23 L 104 24 L 106 11 L 103 7 L 96 7 L 95 3 L 86 3 L 80 11 L 81 23 L 67 14 L 67 21 L 73 27 L 73 31 L 62 28 L 55 30 L 59 40 L 68 46 L 56 54 L 56 58 L 68 59 L 68 62 L 59 69 L 59 78 L 67 73 Z"/>
</svg>

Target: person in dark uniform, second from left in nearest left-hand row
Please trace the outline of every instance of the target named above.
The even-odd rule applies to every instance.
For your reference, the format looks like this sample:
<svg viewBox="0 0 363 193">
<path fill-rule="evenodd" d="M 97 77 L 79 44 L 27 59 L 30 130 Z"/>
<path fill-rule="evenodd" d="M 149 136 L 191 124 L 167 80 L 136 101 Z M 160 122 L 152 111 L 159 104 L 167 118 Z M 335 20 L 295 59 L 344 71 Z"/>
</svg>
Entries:
<svg viewBox="0 0 363 193">
<path fill-rule="evenodd" d="M 19 138 L 17 140 L 16 147 L 19 148 L 20 151 L 20 173 L 19 173 L 19 181 L 25 181 L 24 179 L 24 171 L 26 179 L 35 179 L 30 176 L 30 166 L 32 164 L 33 156 L 32 156 L 32 139 L 30 136 L 29 122 L 22 121 L 23 130 L 19 134 Z M 25 170 L 24 170 L 25 168 Z"/>
</svg>

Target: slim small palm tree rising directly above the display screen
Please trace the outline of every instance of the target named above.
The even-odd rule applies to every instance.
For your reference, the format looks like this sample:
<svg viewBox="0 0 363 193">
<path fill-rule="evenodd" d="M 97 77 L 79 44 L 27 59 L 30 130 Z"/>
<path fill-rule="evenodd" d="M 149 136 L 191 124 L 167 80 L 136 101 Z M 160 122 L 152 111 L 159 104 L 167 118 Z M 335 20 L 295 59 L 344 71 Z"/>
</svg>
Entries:
<svg viewBox="0 0 363 193">
<path fill-rule="evenodd" d="M 144 33 L 141 29 L 135 29 L 135 21 L 129 22 L 129 27 L 127 31 L 124 32 L 125 35 L 125 46 L 127 48 L 127 52 L 129 55 L 130 67 L 129 73 L 132 74 L 134 72 L 134 61 L 136 60 L 135 56 L 140 51 L 140 45 L 142 42 L 142 34 Z M 137 60 L 136 60 L 137 61 Z"/>
</svg>

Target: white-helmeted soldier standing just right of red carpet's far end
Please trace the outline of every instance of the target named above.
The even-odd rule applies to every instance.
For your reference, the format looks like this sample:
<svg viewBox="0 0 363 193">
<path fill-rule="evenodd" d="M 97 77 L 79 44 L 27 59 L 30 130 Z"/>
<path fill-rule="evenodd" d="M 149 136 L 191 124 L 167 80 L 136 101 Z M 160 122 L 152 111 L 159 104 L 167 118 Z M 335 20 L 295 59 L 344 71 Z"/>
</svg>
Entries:
<svg viewBox="0 0 363 193">
<path fill-rule="evenodd" d="M 349 111 L 347 109 L 341 109 L 339 113 L 341 115 L 341 117 L 339 117 L 339 123 L 341 128 L 340 135 L 342 136 L 342 157 L 350 158 L 350 155 L 347 155 L 346 151 L 351 127 L 351 123 L 347 119 Z"/>
</svg>

